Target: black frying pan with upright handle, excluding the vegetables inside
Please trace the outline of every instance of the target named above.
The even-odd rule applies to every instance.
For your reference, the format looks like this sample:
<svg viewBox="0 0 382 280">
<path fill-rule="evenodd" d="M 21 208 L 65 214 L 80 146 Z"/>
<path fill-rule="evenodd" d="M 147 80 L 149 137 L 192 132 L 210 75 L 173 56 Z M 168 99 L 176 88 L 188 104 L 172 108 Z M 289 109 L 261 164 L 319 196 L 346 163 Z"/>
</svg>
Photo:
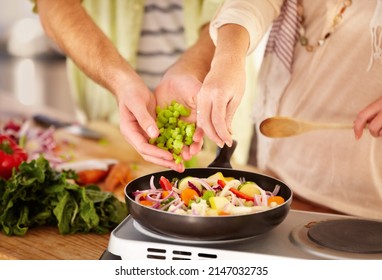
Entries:
<svg viewBox="0 0 382 280">
<path fill-rule="evenodd" d="M 259 173 L 234 170 L 230 164 L 230 157 L 236 147 L 224 146 L 218 150 L 215 160 L 208 168 L 188 168 L 183 173 L 166 170 L 148 174 L 130 181 L 125 187 L 125 200 L 131 217 L 141 226 L 165 236 L 193 241 L 218 241 L 249 238 L 266 233 L 279 225 L 287 216 L 292 202 L 292 191 L 283 182 Z M 216 172 L 222 172 L 225 177 L 245 178 L 253 181 L 261 188 L 273 191 L 280 186 L 278 195 L 285 202 L 269 210 L 245 215 L 234 216 L 192 216 L 165 212 L 143 206 L 134 201 L 132 195 L 137 190 L 150 188 L 150 178 L 154 176 L 156 186 L 159 178 L 165 176 L 170 181 L 173 178 L 195 176 L 205 178 Z"/>
</svg>

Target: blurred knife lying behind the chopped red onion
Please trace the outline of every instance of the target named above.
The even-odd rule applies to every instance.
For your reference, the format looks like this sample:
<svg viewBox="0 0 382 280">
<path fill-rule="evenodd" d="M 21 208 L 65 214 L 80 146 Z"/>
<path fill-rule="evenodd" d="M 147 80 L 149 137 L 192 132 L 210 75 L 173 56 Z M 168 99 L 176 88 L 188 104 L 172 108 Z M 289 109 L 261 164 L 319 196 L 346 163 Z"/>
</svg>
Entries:
<svg viewBox="0 0 382 280">
<path fill-rule="evenodd" d="M 100 140 L 103 137 L 103 135 L 99 133 L 98 131 L 87 128 L 86 126 L 83 126 L 81 124 L 64 122 L 47 115 L 36 114 L 32 116 L 32 119 L 36 124 L 42 127 L 53 126 L 54 128 L 57 128 L 57 129 L 64 129 L 66 132 L 76 136 L 80 136 L 80 137 L 84 137 L 84 138 L 88 138 L 92 140 Z"/>
</svg>

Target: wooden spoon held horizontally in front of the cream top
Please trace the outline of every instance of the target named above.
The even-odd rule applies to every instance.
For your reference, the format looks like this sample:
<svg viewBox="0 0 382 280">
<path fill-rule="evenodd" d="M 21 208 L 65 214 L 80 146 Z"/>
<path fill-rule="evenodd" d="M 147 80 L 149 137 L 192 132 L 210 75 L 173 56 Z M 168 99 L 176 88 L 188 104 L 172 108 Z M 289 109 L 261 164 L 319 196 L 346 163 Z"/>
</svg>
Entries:
<svg viewBox="0 0 382 280">
<path fill-rule="evenodd" d="M 352 124 L 341 123 L 313 123 L 288 117 L 271 117 L 260 124 L 262 134 L 272 138 L 282 138 L 299 135 L 317 129 L 352 129 Z"/>
</svg>

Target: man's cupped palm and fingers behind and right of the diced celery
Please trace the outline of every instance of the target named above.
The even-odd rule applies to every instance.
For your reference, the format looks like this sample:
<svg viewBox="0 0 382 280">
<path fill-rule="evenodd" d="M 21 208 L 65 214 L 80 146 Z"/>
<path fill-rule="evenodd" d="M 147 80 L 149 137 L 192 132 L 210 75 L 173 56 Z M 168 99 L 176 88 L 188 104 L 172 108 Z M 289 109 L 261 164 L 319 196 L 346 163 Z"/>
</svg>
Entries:
<svg viewBox="0 0 382 280">
<path fill-rule="evenodd" d="M 201 85 L 202 83 L 193 75 L 166 74 L 154 92 L 157 104 L 163 108 L 175 100 L 179 104 L 183 104 L 185 107 L 191 109 L 191 114 L 185 119 L 185 121 L 196 123 L 195 97 Z M 194 143 L 192 143 L 189 148 L 183 148 L 183 159 L 191 159 L 192 156 L 201 151 L 202 146 L 203 131 L 196 128 Z M 175 161 L 171 168 L 177 170 L 178 172 L 184 171 L 184 165 L 176 165 Z"/>
</svg>

